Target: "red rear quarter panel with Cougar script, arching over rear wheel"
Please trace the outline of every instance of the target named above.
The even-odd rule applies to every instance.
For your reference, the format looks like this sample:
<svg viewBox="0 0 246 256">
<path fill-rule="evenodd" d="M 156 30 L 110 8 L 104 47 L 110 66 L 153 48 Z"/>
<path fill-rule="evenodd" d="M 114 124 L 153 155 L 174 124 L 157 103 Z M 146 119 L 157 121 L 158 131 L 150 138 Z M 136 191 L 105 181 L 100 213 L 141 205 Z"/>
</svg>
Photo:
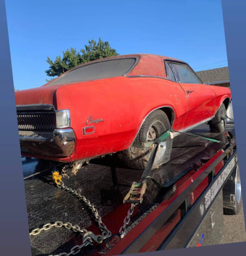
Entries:
<svg viewBox="0 0 246 256">
<path fill-rule="evenodd" d="M 181 128 L 188 111 L 187 99 L 177 83 L 161 78 L 127 78 L 66 85 L 71 99 L 76 152 L 73 160 L 122 151 L 130 147 L 145 117 L 164 106 L 175 111 L 173 128 Z M 87 120 L 103 122 L 87 125 Z M 95 133 L 83 134 L 93 125 Z"/>
</svg>

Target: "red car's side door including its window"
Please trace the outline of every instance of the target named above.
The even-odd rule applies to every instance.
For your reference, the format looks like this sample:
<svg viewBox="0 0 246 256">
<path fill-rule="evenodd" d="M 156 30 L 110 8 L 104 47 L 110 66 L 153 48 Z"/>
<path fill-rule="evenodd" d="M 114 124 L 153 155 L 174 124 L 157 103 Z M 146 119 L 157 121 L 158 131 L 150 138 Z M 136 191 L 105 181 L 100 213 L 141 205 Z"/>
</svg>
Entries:
<svg viewBox="0 0 246 256">
<path fill-rule="evenodd" d="M 211 118 L 215 109 L 213 89 L 204 85 L 188 64 L 169 62 L 169 65 L 188 99 L 188 116 L 184 126 L 196 125 Z"/>
</svg>

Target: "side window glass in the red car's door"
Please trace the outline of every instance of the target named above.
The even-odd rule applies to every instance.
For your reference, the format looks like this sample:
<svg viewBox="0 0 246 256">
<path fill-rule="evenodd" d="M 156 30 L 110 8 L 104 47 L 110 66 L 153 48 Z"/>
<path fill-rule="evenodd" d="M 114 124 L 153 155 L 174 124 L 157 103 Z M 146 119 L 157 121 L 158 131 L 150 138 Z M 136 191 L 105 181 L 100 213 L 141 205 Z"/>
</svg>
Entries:
<svg viewBox="0 0 246 256">
<path fill-rule="evenodd" d="M 169 64 L 178 83 L 202 83 L 188 65 L 175 62 L 169 62 Z"/>
</svg>

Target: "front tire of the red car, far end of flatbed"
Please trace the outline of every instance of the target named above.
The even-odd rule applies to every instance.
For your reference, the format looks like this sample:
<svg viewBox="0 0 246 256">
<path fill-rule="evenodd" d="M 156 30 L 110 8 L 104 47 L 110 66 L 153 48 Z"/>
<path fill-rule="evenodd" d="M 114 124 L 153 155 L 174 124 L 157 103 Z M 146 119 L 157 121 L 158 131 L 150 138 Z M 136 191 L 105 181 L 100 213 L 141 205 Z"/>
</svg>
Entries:
<svg viewBox="0 0 246 256">
<path fill-rule="evenodd" d="M 208 124 L 212 133 L 223 133 L 226 128 L 226 107 L 224 103 L 222 103 L 215 117 Z"/>
</svg>

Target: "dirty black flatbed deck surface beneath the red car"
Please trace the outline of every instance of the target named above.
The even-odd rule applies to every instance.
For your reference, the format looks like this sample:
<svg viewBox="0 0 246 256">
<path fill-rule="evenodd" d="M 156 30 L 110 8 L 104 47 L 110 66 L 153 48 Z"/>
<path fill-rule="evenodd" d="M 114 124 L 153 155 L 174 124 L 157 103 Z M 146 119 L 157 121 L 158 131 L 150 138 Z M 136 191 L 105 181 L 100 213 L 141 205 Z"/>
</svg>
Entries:
<svg viewBox="0 0 246 256">
<path fill-rule="evenodd" d="M 235 134 L 233 124 L 228 124 L 226 130 Z M 194 173 L 194 164 L 199 165 L 201 159 L 210 159 L 228 144 L 224 134 L 209 133 L 207 125 L 199 126 L 191 133 L 216 138 L 221 140 L 221 143 L 186 134 L 175 137 L 170 162 L 153 170 L 151 176 L 161 183 L 167 183 L 184 170 L 190 171 L 166 189 L 157 188 L 149 180 L 143 203 L 136 207 L 127 233 L 175 193 Z M 119 234 L 130 207 L 130 204 L 123 204 L 123 198 L 132 182 L 140 180 L 142 173 L 140 170 L 126 168 L 117 161 L 116 155 L 107 155 L 101 159 L 91 160 L 88 165 L 77 171 L 76 175 L 71 170 L 66 170 L 63 182 L 89 199 L 98 209 L 99 215 L 112 234 Z M 90 210 L 76 197 L 55 186 L 49 162 L 23 158 L 23 175 L 30 231 L 46 223 L 63 221 L 100 234 Z M 173 215 L 172 218 L 178 217 Z M 71 247 L 78 243 L 81 244 L 81 236 L 65 228 L 52 228 L 42 231 L 38 236 L 31 236 L 32 253 L 39 256 L 69 252 Z M 77 255 L 105 253 L 105 244 L 101 244 L 84 247 Z"/>
</svg>

